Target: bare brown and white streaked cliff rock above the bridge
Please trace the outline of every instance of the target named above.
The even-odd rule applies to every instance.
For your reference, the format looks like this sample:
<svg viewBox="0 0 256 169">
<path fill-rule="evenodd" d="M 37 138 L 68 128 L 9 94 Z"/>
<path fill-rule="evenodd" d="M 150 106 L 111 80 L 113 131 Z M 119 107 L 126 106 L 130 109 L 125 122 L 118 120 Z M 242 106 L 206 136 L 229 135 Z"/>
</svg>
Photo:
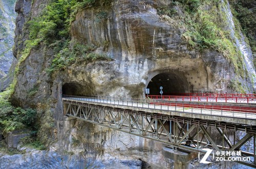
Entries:
<svg viewBox="0 0 256 169">
<path fill-rule="evenodd" d="M 113 1 L 81 10 L 71 25 L 72 40 L 98 46 L 96 51 L 107 54 L 113 61 L 71 66 L 55 75 L 54 79 L 58 80 L 54 80 L 46 75 L 53 50 L 38 46 L 20 64 L 21 73 L 12 98 L 20 104 L 27 105 L 29 100 L 35 105 L 38 98 L 39 101 L 46 100 L 51 95 L 50 88 L 57 85 L 55 82 L 61 84 L 58 92 L 63 85 L 65 94 L 141 97 L 150 80 L 162 73 L 176 80 L 172 83 L 177 90 L 174 92 L 236 92 L 238 85 L 244 92 L 252 92 L 253 75 L 250 74 L 255 71 L 253 64 L 249 68 L 243 64 L 244 72 L 235 71 L 236 63 L 220 52 L 191 50 L 182 38 L 185 30 L 175 26 L 172 18 L 157 13 L 156 8 L 168 3 Z M 29 34 L 28 30 L 22 29 L 26 16 L 31 10 L 36 16 L 42 9 L 39 4 L 40 1 L 35 1 L 31 6 L 29 1 L 20 1 L 16 5 L 19 14 L 16 35 L 19 36 L 15 38 L 14 54 L 17 58 Z M 240 48 L 237 47 L 238 51 L 243 50 Z M 248 62 L 251 60 L 249 58 Z M 242 62 L 246 59 L 242 58 Z M 232 77 L 236 77 L 235 82 Z M 39 92 L 29 98 L 28 89 Z"/>
</svg>

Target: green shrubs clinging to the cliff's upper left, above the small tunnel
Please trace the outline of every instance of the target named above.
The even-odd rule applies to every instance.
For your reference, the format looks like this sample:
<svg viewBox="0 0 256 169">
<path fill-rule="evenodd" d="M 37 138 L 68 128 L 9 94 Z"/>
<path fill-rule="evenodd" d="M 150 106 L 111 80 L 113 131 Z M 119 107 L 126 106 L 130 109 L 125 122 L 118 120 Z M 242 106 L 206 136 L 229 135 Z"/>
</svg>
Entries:
<svg viewBox="0 0 256 169">
<path fill-rule="evenodd" d="M 94 3 L 95 0 L 53 0 L 40 17 L 28 22 L 30 34 L 26 46 L 31 49 L 40 43 L 45 43 L 54 48 L 55 57 L 48 68 L 50 75 L 72 64 L 111 60 L 105 54 L 95 53 L 97 46 L 71 41 L 70 25 L 76 13 L 81 8 L 91 7 Z"/>
</svg>

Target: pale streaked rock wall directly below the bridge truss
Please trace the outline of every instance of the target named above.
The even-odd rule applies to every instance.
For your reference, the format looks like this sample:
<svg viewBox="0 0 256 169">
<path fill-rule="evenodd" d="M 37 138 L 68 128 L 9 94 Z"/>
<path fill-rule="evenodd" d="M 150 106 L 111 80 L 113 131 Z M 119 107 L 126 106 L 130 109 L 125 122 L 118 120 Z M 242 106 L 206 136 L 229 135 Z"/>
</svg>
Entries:
<svg viewBox="0 0 256 169">
<path fill-rule="evenodd" d="M 111 161 L 112 158 L 121 161 L 136 159 L 152 168 L 166 168 L 172 164 L 172 162 L 166 163 L 161 154 L 161 149 L 164 147 L 162 143 L 93 125 L 82 120 L 74 121 L 70 117 L 65 119 L 62 124 L 65 129 L 63 138 L 67 139 L 54 144 L 51 151 L 73 153 L 83 158 L 90 157 L 99 161 Z M 62 133 L 58 134 L 62 135 Z"/>
</svg>

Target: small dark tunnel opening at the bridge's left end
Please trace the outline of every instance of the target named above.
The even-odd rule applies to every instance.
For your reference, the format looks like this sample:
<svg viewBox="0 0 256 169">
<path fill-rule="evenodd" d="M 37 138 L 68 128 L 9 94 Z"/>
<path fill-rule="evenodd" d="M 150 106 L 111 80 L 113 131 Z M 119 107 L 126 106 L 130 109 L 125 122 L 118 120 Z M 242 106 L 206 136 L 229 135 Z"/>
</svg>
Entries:
<svg viewBox="0 0 256 169">
<path fill-rule="evenodd" d="M 62 94 L 87 96 L 94 95 L 92 88 L 89 85 L 82 85 L 79 83 L 65 83 L 62 86 Z"/>
</svg>

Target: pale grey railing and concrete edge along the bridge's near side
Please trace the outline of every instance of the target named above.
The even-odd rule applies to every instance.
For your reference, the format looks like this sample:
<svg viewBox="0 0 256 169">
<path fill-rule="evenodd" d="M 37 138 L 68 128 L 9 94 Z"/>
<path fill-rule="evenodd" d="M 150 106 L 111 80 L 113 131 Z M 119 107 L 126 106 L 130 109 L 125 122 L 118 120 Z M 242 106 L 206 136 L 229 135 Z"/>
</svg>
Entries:
<svg viewBox="0 0 256 169">
<path fill-rule="evenodd" d="M 105 103 L 110 105 L 123 105 L 129 107 L 141 107 L 148 109 L 157 109 L 157 110 L 167 110 L 167 111 L 177 111 L 184 113 L 196 113 L 196 114 L 205 114 L 205 115 L 215 115 L 215 116 L 225 116 L 225 117 L 237 117 L 237 118 L 246 118 L 246 119 L 256 119 L 256 113 L 248 112 L 237 112 L 237 111 L 226 111 L 226 110 L 214 110 L 214 109 L 202 109 L 202 108 L 189 108 L 181 106 L 165 106 L 157 105 L 150 103 L 138 103 L 131 101 L 117 101 L 117 100 L 107 100 L 107 99 L 94 99 L 94 98 L 79 98 L 79 97 L 68 97 L 63 98 L 70 101 L 87 101 L 93 103 Z"/>
</svg>

